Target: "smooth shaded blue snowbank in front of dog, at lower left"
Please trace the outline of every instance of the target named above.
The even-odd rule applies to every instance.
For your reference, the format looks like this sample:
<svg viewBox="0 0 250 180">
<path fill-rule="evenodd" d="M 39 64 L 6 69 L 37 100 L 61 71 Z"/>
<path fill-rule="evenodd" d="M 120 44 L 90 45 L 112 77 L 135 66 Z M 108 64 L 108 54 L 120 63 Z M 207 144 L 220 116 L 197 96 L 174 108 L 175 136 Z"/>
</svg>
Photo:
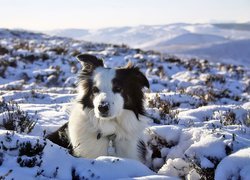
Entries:
<svg viewBox="0 0 250 180">
<path fill-rule="evenodd" d="M 36 142 L 39 137 L 30 137 L 27 135 L 14 134 L 11 136 L 11 142 L 4 139 L 7 131 L 1 131 L 1 141 L 7 147 L 15 147 L 16 140 L 21 143 L 24 140 Z M 17 154 L 8 152 L 4 154 L 4 162 L 1 168 L 1 175 L 6 174 L 9 169 L 13 169 L 8 178 L 22 177 L 24 179 L 33 178 L 57 178 L 57 179 L 71 179 L 72 169 L 79 174 L 79 177 L 85 177 L 90 179 L 118 179 L 126 177 L 140 177 L 147 175 L 154 175 L 151 170 L 146 166 L 135 160 L 122 159 L 117 157 L 98 157 L 95 160 L 76 158 L 57 145 L 52 144 L 50 141 L 46 141 L 46 145 L 43 149 L 42 163 L 39 167 L 34 168 L 21 168 L 17 165 Z M 52 163 L 53 162 L 53 163 Z M 56 169 L 58 169 L 56 171 Z M 126 169 L 126 171 L 124 170 Z M 112 170 L 112 173 L 110 173 Z M 37 175 L 41 172 L 40 175 Z M 55 175 L 55 172 L 56 175 Z M 3 174 L 2 174 L 3 173 Z"/>
</svg>

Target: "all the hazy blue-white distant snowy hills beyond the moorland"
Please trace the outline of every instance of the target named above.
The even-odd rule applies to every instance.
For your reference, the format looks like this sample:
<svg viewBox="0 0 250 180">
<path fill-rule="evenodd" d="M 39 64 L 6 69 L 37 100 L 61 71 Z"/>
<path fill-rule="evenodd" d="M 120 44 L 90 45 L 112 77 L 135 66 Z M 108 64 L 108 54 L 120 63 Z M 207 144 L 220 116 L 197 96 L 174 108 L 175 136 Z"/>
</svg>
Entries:
<svg viewBox="0 0 250 180">
<path fill-rule="evenodd" d="M 240 50 L 238 53 L 238 64 L 250 65 L 248 54 L 250 43 L 245 47 L 238 47 L 238 40 L 250 39 L 250 25 L 245 24 L 169 24 L 120 28 L 104 28 L 98 30 L 65 29 L 46 32 L 50 35 L 72 37 L 79 40 L 94 42 L 127 44 L 133 48 L 146 50 L 157 50 L 162 53 L 179 55 L 196 55 L 207 57 L 209 60 L 227 61 L 234 59 L 226 43 L 231 47 Z M 220 51 L 214 54 L 213 51 L 201 51 L 200 49 L 216 49 L 220 44 Z M 225 46 L 223 46 L 225 44 Z M 196 53 L 197 50 L 197 53 Z M 191 53 L 189 53 L 192 51 Z M 224 55 L 227 57 L 224 58 Z M 218 59 L 218 57 L 221 57 Z M 247 61 L 246 61 L 247 59 Z M 232 63 L 232 62 L 230 62 Z"/>
</svg>

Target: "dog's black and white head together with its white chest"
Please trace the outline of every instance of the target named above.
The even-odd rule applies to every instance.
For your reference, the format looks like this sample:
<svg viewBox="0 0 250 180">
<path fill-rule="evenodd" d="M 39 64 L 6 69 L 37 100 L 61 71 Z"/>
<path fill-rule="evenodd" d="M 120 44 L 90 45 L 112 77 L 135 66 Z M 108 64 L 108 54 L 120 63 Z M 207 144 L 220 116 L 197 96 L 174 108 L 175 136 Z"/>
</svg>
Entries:
<svg viewBox="0 0 250 180">
<path fill-rule="evenodd" d="M 77 57 L 82 64 L 78 95 L 71 109 L 68 135 L 73 154 L 96 158 L 108 155 L 110 135 L 115 135 L 115 156 L 140 160 L 139 141 L 148 118 L 143 105 L 149 82 L 138 68 L 105 68 L 95 56 Z"/>
</svg>

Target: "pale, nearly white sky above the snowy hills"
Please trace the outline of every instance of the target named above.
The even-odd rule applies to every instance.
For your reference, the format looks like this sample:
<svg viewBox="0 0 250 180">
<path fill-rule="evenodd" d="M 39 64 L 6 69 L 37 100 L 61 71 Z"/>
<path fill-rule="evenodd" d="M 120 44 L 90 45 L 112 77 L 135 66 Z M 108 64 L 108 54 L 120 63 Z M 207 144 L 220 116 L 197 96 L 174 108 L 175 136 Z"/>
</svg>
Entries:
<svg viewBox="0 0 250 180">
<path fill-rule="evenodd" d="M 250 0 L 0 0 L 0 28 L 250 22 Z"/>
</svg>

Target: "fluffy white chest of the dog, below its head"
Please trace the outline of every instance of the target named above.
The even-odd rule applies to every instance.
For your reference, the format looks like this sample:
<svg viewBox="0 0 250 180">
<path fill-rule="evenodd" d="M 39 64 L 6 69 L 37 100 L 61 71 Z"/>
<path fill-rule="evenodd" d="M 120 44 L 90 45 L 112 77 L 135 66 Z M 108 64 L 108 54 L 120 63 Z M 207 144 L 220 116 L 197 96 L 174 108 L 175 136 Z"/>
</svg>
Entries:
<svg viewBox="0 0 250 180">
<path fill-rule="evenodd" d="M 95 121 L 91 115 L 79 107 L 71 112 L 69 136 L 76 156 L 138 159 L 137 143 L 145 128 L 143 121 L 138 121 L 129 110 L 124 110 L 118 121 Z"/>
</svg>

